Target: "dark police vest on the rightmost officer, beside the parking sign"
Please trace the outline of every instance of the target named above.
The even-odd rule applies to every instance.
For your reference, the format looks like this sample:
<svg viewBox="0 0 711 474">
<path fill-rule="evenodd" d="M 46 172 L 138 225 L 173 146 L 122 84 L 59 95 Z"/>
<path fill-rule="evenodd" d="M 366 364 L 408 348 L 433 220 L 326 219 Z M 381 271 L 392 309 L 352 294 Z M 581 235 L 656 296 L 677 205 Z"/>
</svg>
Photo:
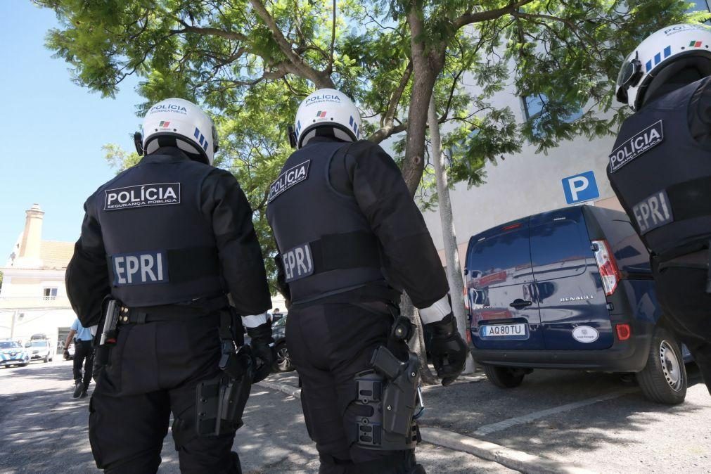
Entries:
<svg viewBox="0 0 711 474">
<path fill-rule="evenodd" d="M 661 259 L 711 237 L 711 149 L 693 139 L 688 106 L 706 77 L 646 104 L 622 124 L 607 176 L 644 244 Z"/>
</svg>

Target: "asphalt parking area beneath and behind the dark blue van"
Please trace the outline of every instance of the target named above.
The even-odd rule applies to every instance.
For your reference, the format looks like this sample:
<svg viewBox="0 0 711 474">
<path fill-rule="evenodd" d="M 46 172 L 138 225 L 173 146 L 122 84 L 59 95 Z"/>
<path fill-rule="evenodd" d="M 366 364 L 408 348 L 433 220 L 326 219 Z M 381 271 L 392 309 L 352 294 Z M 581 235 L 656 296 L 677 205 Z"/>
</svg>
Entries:
<svg viewBox="0 0 711 474">
<path fill-rule="evenodd" d="M 689 375 L 678 406 L 648 402 L 618 375 L 538 370 L 509 390 L 474 375 L 426 387 L 420 424 L 602 473 L 711 473 L 711 397 L 693 365 Z"/>
</svg>

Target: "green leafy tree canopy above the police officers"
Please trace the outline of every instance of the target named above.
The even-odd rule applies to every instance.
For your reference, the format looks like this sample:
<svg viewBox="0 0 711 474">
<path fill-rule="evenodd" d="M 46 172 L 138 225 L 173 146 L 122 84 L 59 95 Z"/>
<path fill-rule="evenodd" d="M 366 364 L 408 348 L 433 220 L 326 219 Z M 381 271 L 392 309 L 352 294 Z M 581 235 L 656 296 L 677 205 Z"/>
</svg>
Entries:
<svg viewBox="0 0 711 474">
<path fill-rule="evenodd" d="M 545 152 L 614 132 L 626 114 L 612 91 L 626 54 L 661 26 L 705 19 L 686 14 L 683 0 L 33 1 L 56 12 L 47 45 L 77 84 L 110 97 L 137 75 L 139 113 L 177 96 L 213 114 L 218 163 L 245 189 L 265 254 L 274 252 L 265 194 L 290 152 L 286 127 L 314 87 L 351 95 L 370 139 L 392 138 L 404 166 L 419 160 L 405 131 L 425 140 L 410 111 L 426 115 L 413 104 L 434 93 L 450 182 L 479 185 L 486 163 L 526 142 Z M 413 90 L 427 74 L 433 86 Z M 542 112 L 523 121 L 502 94 L 512 89 L 545 97 Z M 106 151 L 119 169 L 137 159 Z M 434 204 L 427 166 L 406 178 L 422 184 L 423 205 Z"/>
</svg>

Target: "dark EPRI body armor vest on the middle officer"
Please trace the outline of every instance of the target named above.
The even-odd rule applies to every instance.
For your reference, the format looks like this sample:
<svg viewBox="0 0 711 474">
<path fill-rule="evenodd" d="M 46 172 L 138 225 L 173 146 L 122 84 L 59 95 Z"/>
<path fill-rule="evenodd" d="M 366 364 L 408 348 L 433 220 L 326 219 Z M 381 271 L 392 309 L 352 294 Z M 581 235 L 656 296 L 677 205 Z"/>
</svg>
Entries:
<svg viewBox="0 0 711 474">
<path fill-rule="evenodd" d="M 351 195 L 328 173 L 349 144 L 320 142 L 292 153 L 269 188 L 267 219 L 282 256 L 292 303 L 385 281 L 380 244 Z"/>
</svg>

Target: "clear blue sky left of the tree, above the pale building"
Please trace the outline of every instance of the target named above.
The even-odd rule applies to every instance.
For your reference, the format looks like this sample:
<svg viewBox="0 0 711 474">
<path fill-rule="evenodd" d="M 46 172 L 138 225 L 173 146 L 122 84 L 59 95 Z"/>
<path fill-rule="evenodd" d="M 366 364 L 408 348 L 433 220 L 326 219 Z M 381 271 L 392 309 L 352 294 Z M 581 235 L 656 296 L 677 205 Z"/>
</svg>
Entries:
<svg viewBox="0 0 711 474">
<path fill-rule="evenodd" d="M 39 203 L 46 212 L 43 239 L 75 241 L 86 198 L 111 178 L 102 145 L 133 148 L 141 119 L 138 81 L 116 99 L 75 85 L 68 64 L 52 58 L 44 38 L 58 26 L 53 11 L 28 0 L 0 1 L 0 266 Z"/>
</svg>

